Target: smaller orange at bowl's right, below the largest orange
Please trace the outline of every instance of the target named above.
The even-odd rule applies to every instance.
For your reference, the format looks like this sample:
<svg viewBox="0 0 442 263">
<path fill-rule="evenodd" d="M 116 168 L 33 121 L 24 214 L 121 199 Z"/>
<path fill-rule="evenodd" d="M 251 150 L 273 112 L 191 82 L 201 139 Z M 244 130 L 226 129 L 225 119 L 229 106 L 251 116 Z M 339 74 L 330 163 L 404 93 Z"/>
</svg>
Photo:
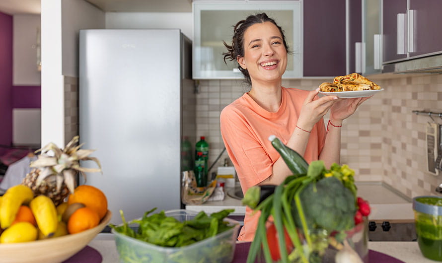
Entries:
<svg viewBox="0 0 442 263">
<path fill-rule="evenodd" d="M 89 207 L 77 209 L 69 218 L 68 232 L 69 234 L 79 233 L 81 231 L 96 227 L 100 223 L 97 212 Z"/>
</svg>

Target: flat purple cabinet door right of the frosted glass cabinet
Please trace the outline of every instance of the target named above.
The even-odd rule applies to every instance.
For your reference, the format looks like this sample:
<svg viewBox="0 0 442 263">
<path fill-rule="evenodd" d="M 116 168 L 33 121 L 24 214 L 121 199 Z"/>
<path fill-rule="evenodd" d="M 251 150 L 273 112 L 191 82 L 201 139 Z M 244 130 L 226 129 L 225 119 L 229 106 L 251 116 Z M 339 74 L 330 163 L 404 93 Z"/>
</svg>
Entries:
<svg viewBox="0 0 442 263">
<path fill-rule="evenodd" d="M 303 76 L 345 75 L 345 0 L 303 5 Z"/>
</svg>

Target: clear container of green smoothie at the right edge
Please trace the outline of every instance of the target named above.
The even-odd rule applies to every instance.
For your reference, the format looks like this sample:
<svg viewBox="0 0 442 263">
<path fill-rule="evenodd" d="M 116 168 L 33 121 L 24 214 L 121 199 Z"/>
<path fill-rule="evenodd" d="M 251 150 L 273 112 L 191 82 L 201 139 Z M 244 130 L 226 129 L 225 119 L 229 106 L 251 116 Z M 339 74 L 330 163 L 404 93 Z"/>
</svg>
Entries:
<svg viewBox="0 0 442 263">
<path fill-rule="evenodd" d="M 422 255 L 442 261 L 442 197 L 414 197 L 413 210 Z"/>
</svg>

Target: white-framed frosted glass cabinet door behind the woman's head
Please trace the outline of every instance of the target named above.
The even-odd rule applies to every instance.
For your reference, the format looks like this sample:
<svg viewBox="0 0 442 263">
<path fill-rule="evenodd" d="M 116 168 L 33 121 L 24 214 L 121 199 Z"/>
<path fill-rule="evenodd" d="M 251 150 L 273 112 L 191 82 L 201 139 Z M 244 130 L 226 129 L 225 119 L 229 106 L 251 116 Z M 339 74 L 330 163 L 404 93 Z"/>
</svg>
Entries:
<svg viewBox="0 0 442 263">
<path fill-rule="evenodd" d="M 283 78 L 302 75 L 301 3 L 292 2 L 193 2 L 194 42 L 193 78 L 221 79 L 243 78 L 236 61 L 226 60 L 222 53 L 227 49 L 223 41 L 231 45 L 233 27 L 250 14 L 265 12 L 284 30 L 289 49 L 288 64 Z"/>
</svg>

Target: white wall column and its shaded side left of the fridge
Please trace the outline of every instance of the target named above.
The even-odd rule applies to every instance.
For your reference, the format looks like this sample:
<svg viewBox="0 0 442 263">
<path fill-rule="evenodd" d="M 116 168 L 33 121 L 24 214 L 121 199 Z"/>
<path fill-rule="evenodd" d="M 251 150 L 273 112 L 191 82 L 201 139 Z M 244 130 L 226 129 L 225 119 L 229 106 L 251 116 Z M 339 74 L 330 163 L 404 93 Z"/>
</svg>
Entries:
<svg viewBox="0 0 442 263">
<path fill-rule="evenodd" d="M 41 0 L 41 143 L 65 145 L 64 76 L 78 76 L 78 30 L 104 28 L 104 12 L 83 0 Z"/>
</svg>

